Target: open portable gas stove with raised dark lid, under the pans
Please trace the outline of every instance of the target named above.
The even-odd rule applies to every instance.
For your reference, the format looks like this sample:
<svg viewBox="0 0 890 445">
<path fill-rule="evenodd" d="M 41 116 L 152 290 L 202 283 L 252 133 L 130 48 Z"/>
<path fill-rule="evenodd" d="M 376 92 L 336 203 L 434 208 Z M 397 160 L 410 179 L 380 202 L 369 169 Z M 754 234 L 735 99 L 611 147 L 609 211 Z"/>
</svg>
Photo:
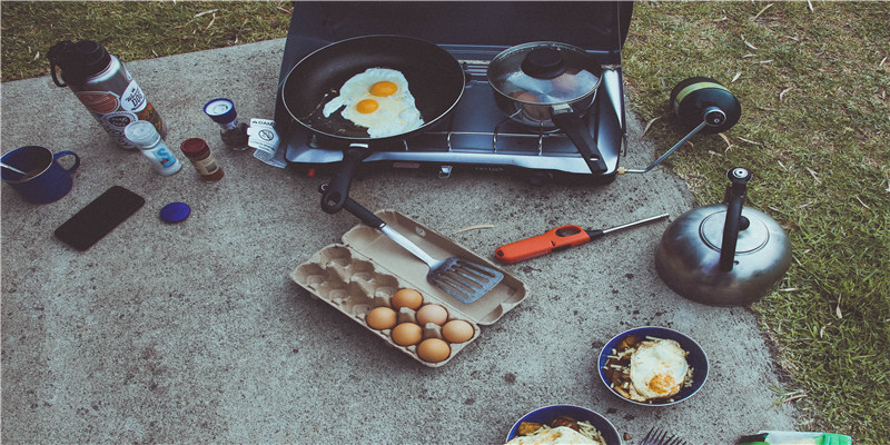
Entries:
<svg viewBox="0 0 890 445">
<path fill-rule="evenodd" d="M 328 43 L 367 34 L 404 34 L 438 44 L 464 67 L 466 87 L 455 109 L 429 130 L 375 151 L 362 167 L 510 171 L 533 182 L 547 179 L 606 184 L 625 148 L 621 48 L 630 26 L 629 2 L 295 2 L 276 103 L 276 127 L 286 159 L 325 168 L 343 160 L 295 123 L 281 103 L 281 83 L 305 56 Z M 501 51 L 530 41 L 560 41 L 584 49 L 603 68 L 603 81 L 585 123 L 607 166 L 593 175 L 574 144 L 558 130 L 532 128 L 497 108 L 486 79 Z"/>
</svg>

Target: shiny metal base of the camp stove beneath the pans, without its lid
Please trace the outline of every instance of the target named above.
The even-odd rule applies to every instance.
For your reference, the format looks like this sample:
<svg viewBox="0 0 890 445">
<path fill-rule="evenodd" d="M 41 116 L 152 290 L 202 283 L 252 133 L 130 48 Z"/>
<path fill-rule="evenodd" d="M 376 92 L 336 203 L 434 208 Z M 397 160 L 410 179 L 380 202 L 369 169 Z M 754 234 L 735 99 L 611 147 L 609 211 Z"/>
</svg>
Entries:
<svg viewBox="0 0 890 445">
<path fill-rule="evenodd" d="M 558 129 L 533 128 L 511 120 L 497 108 L 486 79 L 488 61 L 502 47 L 447 46 L 467 73 L 464 95 L 452 113 L 437 126 L 407 140 L 379 148 L 364 162 L 388 162 L 395 167 L 441 167 L 447 176 L 453 166 L 474 168 L 518 168 L 548 176 L 581 177 L 593 184 L 610 182 L 617 170 L 624 147 L 623 103 L 620 67 L 604 66 L 603 85 L 586 116 L 591 135 L 597 142 L 607 170 L 592 175 L 574 144 Z M 592 53 L 597 57 L 596 52 Z M 609 76 L 609 72 L 613 76 Z M 283 137 L 287 159 L 295 164 L 320 166 L 343 160 L 343 147 L 297 126 Z"/>
</svg>

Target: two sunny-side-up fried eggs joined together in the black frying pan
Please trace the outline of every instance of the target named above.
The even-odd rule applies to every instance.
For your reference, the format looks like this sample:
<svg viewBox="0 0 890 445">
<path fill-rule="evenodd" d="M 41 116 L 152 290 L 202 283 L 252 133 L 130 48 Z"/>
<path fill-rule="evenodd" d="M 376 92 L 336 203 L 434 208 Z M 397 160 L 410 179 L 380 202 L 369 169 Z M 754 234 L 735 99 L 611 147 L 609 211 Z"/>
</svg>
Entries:
<svg viewBox="0 0 890 445">
<path fill-rule="evenodd" d="M 325 105 L 324 116 L 343 109 L 344 119 L 367 128 L 372 138 L 402 135 L 424 123 L 400 71 L 369 68 L 347 80 L 339 92 Z"/>
</svg>

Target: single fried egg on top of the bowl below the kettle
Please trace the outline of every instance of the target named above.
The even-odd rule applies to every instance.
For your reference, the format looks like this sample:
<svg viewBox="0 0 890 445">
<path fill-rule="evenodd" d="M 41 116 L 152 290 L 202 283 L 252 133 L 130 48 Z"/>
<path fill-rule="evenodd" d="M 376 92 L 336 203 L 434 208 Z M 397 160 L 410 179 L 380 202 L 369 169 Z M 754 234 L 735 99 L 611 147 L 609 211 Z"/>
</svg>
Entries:
<svg viewBox="0 0 890 445">
<path fill-rule="evenodd" d="M 649 339 L 631 355 L 631 384 L 645 399 L 675 395 L 689 372 L 686 352 L 675 340 Z"/>
</svg>

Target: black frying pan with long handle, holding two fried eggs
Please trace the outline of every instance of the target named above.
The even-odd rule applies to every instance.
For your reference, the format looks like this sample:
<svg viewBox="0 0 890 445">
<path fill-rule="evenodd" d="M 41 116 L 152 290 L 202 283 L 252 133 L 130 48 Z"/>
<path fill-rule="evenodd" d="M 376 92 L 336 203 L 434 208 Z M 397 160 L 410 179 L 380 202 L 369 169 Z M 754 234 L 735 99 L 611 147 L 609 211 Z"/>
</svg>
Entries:
<svg viewBox="0 0 890 445">
<path fill-rule="evenodd" d="M 339 112 L 325 118 L 324 105 L 350 77 L 368 68 L 402 71 L 408 80 L 424 125 L 400 135 L 372 138 Z M 297 62 L 281 87 L 281 99 L 290 117 L 310 131 L 343 142 L 343 165 L 322 196 L 322 209 L 339 211 L 349 195 L 358 165 L 387 142 L 422 132 L 445 117 L 464 91 L 464 70 L 444 49 L 411 37 L 365 36 L 328 44 Z"/>
</svg>

